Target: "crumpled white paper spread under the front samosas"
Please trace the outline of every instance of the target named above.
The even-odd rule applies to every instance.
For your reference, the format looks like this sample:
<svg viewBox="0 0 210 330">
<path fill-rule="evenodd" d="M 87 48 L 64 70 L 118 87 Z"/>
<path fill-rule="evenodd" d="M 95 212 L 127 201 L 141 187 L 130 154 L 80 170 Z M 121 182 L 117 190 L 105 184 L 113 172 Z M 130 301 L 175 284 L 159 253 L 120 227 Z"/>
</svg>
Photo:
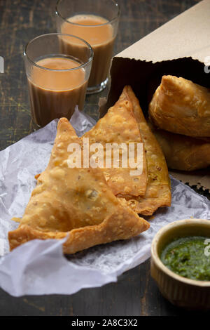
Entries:
<svg viewBox="0 0 210 330">
<path fill-rule="evenodd" d="M 71 124 L 81 136 L 94 119 L 76 110 Z M 210 219 L 210 201 L 190 187 L 172 179 L 172 206 L 160 209 L 146 232 L 127 241 L 94 246 L 66 258 L 62 243 L 54 239 L 27 242 L 8 253 L 11 221 L 21 217 L 36 185 L 34 176 L 48 164 L 57 120 L 0 152 L 0 286 L 12 296 L 71 294 L 80 289 L 116 282 L 125 270 L 151 255 L 151 242 L 158 230 L 183 218 Z"/>
</svg>

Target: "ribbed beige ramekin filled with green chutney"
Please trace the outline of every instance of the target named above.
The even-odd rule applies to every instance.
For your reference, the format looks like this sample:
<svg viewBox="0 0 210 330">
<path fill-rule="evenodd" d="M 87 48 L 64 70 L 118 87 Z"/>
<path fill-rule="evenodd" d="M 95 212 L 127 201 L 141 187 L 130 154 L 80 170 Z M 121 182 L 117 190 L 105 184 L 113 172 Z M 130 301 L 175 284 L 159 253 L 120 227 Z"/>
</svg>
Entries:
<svg viewBox="0 0 210 330">
<path fill-rule="evenodd" d="M 174 305 L 210 309 L 210 220 L 169 223 L 155 235 L 151 276 Z"/>
</svg>

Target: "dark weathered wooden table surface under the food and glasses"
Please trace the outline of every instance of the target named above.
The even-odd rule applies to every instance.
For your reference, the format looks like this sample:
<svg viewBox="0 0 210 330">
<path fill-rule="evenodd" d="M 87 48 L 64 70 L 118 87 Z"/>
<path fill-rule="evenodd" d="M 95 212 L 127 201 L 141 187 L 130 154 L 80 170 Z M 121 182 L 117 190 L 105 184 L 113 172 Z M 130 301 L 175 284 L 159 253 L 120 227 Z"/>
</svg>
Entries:
<svg viewBox="0 0 210 330">
<path fill-rule="evenodd" d="M 96 0 L 99 1 L 99 0 Z M 115 53 L 197 4 L 197 0 L 118 0 L 121 18 Z M 0 0 L 0 150 L 31 132 L 22 51 L 39 34 L 55 32 L 55 0 Z M 152 51 L 152 50 L 151 50 Z M 99 96 L 87 96 L 85 112 L 97 118 Z M 72 296 L 14 298 L 0 289 L 0 315 L 187 315 L 162 298 L 150 276 L 150 260 L 125 272 L 117 283 Z"/>
</svg>

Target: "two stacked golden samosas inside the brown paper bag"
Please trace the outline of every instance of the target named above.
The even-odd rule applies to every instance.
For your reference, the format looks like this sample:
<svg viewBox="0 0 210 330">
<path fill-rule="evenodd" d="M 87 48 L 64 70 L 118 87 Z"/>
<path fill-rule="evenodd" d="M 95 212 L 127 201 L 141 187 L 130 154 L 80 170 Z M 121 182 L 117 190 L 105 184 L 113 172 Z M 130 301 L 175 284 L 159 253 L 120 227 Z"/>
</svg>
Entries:
<svg viewBox="0 0 210 330">
<path fill-rule="evenodd" d="M 149 114 L 170 169 L 194 171 L 210 165 L 209 88 L 163 76 Z"/>
</svg>

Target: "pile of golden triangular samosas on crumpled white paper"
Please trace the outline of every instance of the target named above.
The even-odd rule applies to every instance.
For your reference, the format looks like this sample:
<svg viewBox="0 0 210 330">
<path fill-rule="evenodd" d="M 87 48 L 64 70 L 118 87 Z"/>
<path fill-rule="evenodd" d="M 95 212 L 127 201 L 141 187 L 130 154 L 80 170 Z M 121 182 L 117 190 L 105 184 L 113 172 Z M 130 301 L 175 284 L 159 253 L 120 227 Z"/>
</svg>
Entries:
<svg viewBox="0 0 210 330">
<path fill-rule="evenodd" d="M 116 167 L 69 166 L 69 144 L 84 150 L 87 138 L 90 145 L 99 143 L 104 149 L 114 143 L 124 147 L 141 144 L 141 171 L 131 176 L 130 162 L 123 167 L 120 159 Z M 94 157 L 91 150 L 89 156 L 90 160 Z M 83 157 L 82 152 L 81 164 Z M 107 158 L 113 161 L 113 150 L 109 155 L 106 150 L 104 164 Z M 136 164 L 137 154 L 133 160 Z M 152 215 L 171 204 L 165 157 L 130 86 L 125 86 L 118 102 L 81 138 L 67 119 L 59 119 L 49 164 L 36 178 L 20 225 L 8 234 L 11 250 L 31 239 L 66 237 L 64 253 L 130 239 L 150 226 L 138 213 Z"/>
</svg>

